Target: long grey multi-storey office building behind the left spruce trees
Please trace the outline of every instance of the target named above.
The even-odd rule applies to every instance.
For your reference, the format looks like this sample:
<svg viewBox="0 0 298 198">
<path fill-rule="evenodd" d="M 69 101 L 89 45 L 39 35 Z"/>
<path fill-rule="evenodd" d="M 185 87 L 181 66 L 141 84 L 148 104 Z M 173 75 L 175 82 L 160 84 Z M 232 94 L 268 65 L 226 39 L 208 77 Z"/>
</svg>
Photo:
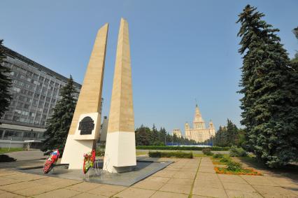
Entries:
<svg viewBox="0 0 298 198">
<path fill-rule="evenodd" d="M 0 119 L 0 147 L 31 147 L 45 139 L 45 125 L 67 78 L 4 46 L 13 99 Z M 81 85 L 74 83 L 78 92 Z M 76 96 L 78 97 L 78 95 Z"/>
</svg>

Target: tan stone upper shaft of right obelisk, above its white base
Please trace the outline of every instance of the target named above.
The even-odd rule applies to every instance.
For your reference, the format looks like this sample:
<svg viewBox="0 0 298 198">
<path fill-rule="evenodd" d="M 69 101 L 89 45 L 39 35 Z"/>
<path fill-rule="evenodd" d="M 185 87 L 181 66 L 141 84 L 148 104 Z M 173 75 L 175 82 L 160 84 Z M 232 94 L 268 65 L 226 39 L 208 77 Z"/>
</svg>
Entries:
<svg viewBox="0 0 298 198">
<path fill-rule="evenodd" d="M 113 80 L 108 133 L 134 132 L 132 68 L 127 21 L 121 18 Z"/>
</svg>

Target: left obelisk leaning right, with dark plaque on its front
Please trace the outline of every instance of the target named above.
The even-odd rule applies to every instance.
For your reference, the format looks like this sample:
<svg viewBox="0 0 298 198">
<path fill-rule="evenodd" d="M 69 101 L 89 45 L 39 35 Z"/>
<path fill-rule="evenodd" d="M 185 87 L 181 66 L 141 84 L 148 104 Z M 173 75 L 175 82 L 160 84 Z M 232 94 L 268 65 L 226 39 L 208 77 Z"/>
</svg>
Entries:
<svg viewBox="0 0 298 198">
<path fill-rule="evenodd" d="M 83 168 L 83 154 L 90 152 L 99 138 L 107 36 L 108 24 L 104 24 L 97 32 L 64 147 L 61 163 L 69 164 L 69 169 Z"/>
</svg>

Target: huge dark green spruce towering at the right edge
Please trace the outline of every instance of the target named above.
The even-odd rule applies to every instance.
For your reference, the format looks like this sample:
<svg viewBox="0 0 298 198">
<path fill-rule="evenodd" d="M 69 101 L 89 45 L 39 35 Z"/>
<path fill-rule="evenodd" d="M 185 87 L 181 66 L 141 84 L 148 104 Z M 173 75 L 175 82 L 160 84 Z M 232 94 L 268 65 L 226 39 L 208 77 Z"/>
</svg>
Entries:
<svg viewBox="0 0 298 198">
<path fill-rule="evenodd" d="M 248 148 L 268 167 L 279 167 L 298 156 L 297 85 L 288 54 L 276 35 L 279 30 L 262 17 L 263 13 L 248 5 L 237 21 L 241 23 L 239 52 L 244 55 L 241 124 L 246 126 Z"/>
</svg>

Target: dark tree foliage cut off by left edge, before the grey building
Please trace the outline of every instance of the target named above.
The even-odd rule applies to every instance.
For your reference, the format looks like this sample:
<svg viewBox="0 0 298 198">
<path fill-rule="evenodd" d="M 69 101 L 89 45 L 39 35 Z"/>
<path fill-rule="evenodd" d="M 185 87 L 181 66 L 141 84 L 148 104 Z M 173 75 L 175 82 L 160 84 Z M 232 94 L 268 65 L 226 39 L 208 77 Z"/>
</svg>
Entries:
<svg viewBox="0 0 298 198">
<path fill-rule="evenodd" d="M 10 99 L 12 99 L 9 92 L 11 79 L 8 77 L 10 69 L 4 66 L 6 55 L 4 54 L 3 48 L 1 48 L 3 45 L 2 43 L 3 40 L 0 40 L 0 118 L 3 116 L 5 111 L 7 111 Z"/>
</svg>

